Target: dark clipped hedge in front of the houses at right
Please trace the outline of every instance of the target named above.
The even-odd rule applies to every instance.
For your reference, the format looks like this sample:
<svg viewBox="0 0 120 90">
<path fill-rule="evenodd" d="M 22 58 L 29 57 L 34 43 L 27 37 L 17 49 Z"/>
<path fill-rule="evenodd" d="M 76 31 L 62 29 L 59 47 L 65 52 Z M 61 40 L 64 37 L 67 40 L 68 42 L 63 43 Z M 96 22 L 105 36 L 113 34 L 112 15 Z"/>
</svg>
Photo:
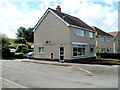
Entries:
<svg viewBox="0 0 120 90">
<path fill-rule="evenodd" d="M 97 53 L 101 58 L 120 59 L 120 53 Z"/>
</svg>

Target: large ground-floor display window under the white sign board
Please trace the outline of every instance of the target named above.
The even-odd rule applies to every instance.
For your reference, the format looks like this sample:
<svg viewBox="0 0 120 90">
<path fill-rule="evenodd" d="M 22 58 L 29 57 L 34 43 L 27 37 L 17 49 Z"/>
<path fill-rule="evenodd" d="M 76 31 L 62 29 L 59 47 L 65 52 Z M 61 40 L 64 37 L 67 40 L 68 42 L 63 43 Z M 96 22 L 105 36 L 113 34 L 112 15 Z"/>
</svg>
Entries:
<svg viewBox="0 0 120 90">
<path fill-rule="evenodd" d="M 73 45 L 73 56 L 85 56 L 86 45 Z"/>
</svg>

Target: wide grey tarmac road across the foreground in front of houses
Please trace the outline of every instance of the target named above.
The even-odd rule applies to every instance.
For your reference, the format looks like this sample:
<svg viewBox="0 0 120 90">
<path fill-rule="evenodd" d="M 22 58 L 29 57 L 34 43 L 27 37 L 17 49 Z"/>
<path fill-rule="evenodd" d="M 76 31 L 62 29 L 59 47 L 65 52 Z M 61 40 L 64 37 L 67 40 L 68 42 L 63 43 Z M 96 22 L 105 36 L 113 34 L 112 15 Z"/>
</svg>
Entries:
<svg viewBox="0 0 120 90">
<path fill-rule="evenodd" d="M 94 76 L 67 66 L 9 60 L 1 66 L 3 79 L 27 88 L 118 88 L 118 66 L 78 65 Z"/>
</svg>

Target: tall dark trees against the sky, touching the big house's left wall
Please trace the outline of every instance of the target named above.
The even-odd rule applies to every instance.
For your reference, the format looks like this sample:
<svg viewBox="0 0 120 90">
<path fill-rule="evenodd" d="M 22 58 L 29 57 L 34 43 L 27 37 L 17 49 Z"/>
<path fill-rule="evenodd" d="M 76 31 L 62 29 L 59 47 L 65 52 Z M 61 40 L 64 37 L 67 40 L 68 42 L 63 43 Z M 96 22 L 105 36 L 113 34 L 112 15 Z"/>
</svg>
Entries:
<svg viewBox="0 0 120 90">
<path fill-rule="evenodd" d="M 24 27 L 19 27 L 17 29 L 17 38 L 23 37 L 25 38 L 26 41 L 28 42 L 33 42 L 34 41 L 34 33 L 33 33 L 33 28 L 24 28 Z"/>
</svg>

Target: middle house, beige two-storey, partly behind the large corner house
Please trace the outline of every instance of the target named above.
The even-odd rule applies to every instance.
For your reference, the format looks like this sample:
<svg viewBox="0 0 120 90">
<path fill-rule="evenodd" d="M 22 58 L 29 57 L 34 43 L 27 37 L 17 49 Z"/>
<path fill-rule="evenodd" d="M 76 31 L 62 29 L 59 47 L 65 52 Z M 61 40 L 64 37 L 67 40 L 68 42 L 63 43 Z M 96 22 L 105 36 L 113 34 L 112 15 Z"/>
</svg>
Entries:
<svg viewBox="0 0 120 90">
<path fill-rule="evenodd" d="M 113 36 L 93 26 L 96 31 L 96 53 L 113 53 Z"/>
</svg>

